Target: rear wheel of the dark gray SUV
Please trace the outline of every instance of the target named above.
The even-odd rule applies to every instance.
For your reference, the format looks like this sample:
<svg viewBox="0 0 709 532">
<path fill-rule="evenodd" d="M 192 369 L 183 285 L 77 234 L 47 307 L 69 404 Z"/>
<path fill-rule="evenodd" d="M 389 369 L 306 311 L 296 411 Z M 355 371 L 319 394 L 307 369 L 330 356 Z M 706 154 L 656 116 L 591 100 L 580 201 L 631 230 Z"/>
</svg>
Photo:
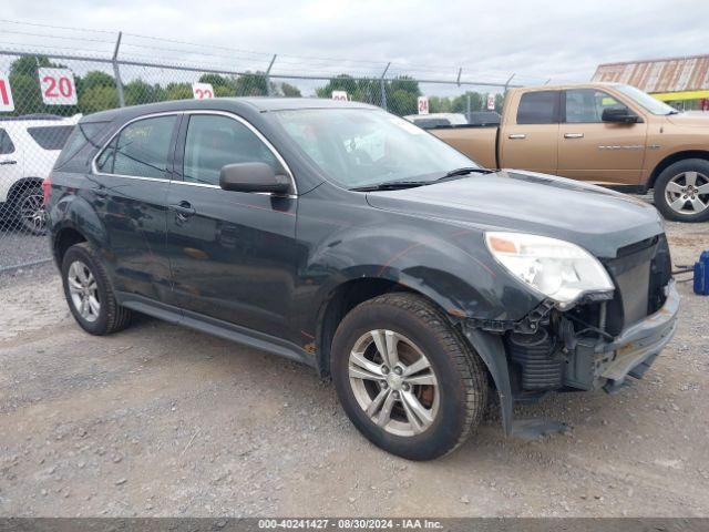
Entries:
<svg viewBox="0 0 709 532">
<path fill-rule="evenodd" d="M 116 303 L 101 259 L 89 244 L 66 250 L 62 282 L 69 309 L 86 332 L 103 336 L 129 326 L 131 311 Z"/>
</svg>

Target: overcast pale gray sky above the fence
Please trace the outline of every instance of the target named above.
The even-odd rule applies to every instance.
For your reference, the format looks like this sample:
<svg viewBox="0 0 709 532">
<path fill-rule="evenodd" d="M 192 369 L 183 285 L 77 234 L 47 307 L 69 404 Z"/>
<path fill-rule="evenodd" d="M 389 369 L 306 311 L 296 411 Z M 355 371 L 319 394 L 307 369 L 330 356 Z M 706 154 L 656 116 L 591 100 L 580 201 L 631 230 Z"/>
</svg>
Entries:
<svg viewBox="0 0 709 532">
<path fill-rule="evenodd" d="M 374 73 L 392 61 L 394 73 L 410 71 L 419 78 L 454 79 L 461 65 L 463 79 L 470 80 L 499 81 L 514 72 L 527 83 L 548 78 L 587 81 L 598 63 L 709 53 L 709 0 L 3 0 L 2 4 L 1 17 L 8 20 L 224 47 L 194 49 L 195 53 L 210 50 L 213 55 L 205 61 L 215 64 L 265 68 L 268 54 L 278 53 L 275 71 L 284 73 L 331 72 L 343 65 Z M 61 39 L 50 41 L 48 34 Z M 112 39 L 110 33 L 0 22 L 0 47 L 29 42 L 103 51 L 110 44 L 97 41 Z M 179 51 L 185 50 L 182 44 L 135 37 L 125 42 L 126 54 L 186 57 Z"/>
</svg>

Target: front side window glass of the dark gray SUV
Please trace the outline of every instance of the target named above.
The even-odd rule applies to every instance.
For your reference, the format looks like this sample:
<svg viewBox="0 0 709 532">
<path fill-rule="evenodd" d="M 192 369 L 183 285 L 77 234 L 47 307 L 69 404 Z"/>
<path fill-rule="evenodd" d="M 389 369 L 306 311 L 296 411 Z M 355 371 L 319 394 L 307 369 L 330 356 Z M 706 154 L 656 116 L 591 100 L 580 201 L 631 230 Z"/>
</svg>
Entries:
<svg viewBox="0 0 709 532">
<path fill-rule="evenodd" d="M 275 171 L 280 168 L 271 151 L 240 122 L 210 114 L 191 116 L 185 181 L 218 185 L 222 167 L 235 163 L 266 163 Z"/>
</svg>

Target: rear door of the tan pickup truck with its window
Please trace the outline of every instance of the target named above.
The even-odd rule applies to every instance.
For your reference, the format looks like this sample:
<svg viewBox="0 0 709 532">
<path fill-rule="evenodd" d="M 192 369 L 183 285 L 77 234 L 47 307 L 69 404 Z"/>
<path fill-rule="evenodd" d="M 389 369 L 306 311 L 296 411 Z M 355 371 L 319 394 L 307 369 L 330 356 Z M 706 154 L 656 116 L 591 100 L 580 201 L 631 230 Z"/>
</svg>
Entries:
<svg viewBox="0 0 709 532">
<path fill-rule="evenodd" d="M 522 93 L 517 115 L 500 131 L 500 165 L 556 174 L 559 91 Z"/>
</svg>

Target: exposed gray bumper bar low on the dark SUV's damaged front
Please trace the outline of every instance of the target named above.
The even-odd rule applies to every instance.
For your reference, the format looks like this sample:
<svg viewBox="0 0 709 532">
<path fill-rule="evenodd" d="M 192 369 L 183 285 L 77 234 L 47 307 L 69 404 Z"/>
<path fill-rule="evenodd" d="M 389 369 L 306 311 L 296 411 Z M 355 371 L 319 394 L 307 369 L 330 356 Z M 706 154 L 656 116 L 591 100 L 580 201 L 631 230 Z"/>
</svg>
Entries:
<svg viewBox="0 0 709 532">
<path fill-rule="evenodd" d="M 679 293 L 674 279 L 665 287 L 665 304 L 655 314 L 626 328 L 612 342 L 597 346 L 596 376 L 618 385 L 628 376 L 643 377 L 677 329 Z"/>
</svg>

